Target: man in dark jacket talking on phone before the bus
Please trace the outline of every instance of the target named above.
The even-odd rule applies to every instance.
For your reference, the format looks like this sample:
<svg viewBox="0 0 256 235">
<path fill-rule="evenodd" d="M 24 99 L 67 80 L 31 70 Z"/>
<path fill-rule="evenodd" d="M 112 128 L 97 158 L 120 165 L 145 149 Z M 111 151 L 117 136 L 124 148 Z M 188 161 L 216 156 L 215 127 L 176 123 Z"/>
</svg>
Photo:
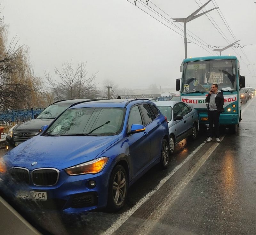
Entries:
<svg viewBox="0 0 256 235">
<path fill-rule="evenodd" d="M 224 97 L 223 93 L 221 91 L 218 91 L 217 84 L 212 84 L 211 90 L 209 91 L 209 94 L 206 97 L 205 102 L 209 103 L 207 109 L 209 119 L 209 138 L 206 140 L 206 142 L 212 141 L 213 130 L 215 130 L 215 140 L 217 142 L 220 142 L 219 118 L 220 113 L 224 112 Z"/>
</svg>

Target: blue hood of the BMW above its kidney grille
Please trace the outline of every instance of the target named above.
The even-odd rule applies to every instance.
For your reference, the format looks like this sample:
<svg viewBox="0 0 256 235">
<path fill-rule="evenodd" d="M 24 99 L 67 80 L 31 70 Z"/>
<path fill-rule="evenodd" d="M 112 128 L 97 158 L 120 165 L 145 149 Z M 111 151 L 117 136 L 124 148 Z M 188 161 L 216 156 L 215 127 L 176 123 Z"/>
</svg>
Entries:
<svg viewBox="0 0 256 235">
<path fill-rule="evenodd" d="M 13 148 L 6 156 L 11 166 L 29 170 L 51 167 L 59 170 L 94 159 L 119 136 L 41 136 Z M 31 163 L 37 162 L 35 166 Z"/>
</svg>

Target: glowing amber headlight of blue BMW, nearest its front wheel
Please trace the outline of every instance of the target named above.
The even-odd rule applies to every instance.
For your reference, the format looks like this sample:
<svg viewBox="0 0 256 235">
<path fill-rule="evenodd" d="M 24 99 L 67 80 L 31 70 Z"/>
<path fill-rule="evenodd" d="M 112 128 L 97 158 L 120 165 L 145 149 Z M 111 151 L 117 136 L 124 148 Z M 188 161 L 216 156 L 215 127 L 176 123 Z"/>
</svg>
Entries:
<svg viewBox="0 0 256 235">
<path fill-rule="evenodd" d="M 102 171 L 108 162 L 108 157 L 100 157 L 92 161 L 66 168 L 68 175 L 96 174 Z"/>
</svg>

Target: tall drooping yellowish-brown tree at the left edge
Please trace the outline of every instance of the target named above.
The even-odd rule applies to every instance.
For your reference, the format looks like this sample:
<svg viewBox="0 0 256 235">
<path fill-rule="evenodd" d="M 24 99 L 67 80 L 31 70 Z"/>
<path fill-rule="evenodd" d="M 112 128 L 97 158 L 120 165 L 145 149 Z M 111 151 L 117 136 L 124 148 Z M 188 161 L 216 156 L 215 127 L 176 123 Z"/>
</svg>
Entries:
<svg viewBox="0 0 256 235">
<path fill-rule="evenodd" d="M 33 76 L 28 46 L 18 45 L 16 37 L 8 44 L 7 38 L 7 26 L 1 20 L 0 110 L 34 107 L 43 91 L 43 83 L 40 78 Z"/>
</svg>

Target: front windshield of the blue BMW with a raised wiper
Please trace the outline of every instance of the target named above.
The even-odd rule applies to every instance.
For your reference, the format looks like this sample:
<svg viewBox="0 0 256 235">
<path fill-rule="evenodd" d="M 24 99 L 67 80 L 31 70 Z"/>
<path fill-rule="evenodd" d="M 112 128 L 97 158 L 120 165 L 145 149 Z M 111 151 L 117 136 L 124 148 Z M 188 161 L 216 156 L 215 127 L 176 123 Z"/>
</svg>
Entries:
<svg viewBox="0 0 256 235">
<path fill-rule="evenodd" d="M 124 108 L 108 107 L 68 109 L 44 135 L 116 135 L 122 130 L 125 110 Z"/>
</svg>

